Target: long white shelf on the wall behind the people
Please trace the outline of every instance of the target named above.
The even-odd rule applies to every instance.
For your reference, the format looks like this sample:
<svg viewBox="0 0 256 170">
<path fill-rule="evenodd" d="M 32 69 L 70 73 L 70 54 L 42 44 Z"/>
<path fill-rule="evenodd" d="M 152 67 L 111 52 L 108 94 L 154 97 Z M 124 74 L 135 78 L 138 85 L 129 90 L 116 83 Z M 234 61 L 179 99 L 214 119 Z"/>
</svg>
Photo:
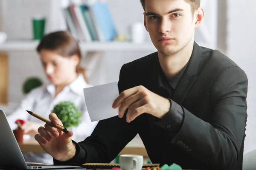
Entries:
<svg viewBox="0 0 256 170">
<path fill-rule="evenodd" d="M 39 41 L 9 40 L 0 44 L 0 51 L 35 51 Z M 157 51 L 150 42 L 134 44 L 131 42 L 82 42 L 79 44 L 82 51 Z"/>
</svg>

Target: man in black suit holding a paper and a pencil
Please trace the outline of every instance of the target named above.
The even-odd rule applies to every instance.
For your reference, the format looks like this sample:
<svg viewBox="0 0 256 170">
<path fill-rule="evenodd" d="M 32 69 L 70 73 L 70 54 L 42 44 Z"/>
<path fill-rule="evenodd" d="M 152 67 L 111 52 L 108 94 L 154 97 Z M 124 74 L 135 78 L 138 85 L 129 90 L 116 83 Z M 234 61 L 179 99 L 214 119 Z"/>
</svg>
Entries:
<svg viewBox="0 0 256 170">
<path fill-rule="evenodd" d="M 194 42 L 200 0 L 141 0 L 157 52 L 122 66 L 119 116 L 83 142 L 45 125 L 35 139 L 56 164 L 110 162 L 138 133 L 153 163 L 186 169 L 242 169 L 247 77 L 217 50 Z M 54 113 L 54 124 L 61 124 Z M 51 135 L 50 135 L 51 134 Z"/>
</svg>

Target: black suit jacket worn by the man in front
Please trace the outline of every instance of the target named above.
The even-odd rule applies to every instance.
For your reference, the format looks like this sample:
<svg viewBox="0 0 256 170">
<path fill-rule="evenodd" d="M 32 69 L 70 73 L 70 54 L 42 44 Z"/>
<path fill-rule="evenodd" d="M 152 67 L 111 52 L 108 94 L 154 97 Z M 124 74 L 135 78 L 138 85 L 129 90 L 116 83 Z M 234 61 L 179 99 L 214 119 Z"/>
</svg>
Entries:
<svg viewBox="0 0 256 170">
<path fill-rule="evenodd" d="M 160 94 L 157 57 L 153 53 L 123 65 L 119 92 L 143 85 Z M 116 116 L 100 121 L 92 135 L 79 143 L 69 162 L 110 162 L 139 133 L 153 163 L 176 163 L 184 169 L 241 170 L 246 97 L 244 71 L 221 52 L 194 43 L 172 97 L 184 111 L 183 124 L 175 136 L 170 133 L 167 117 L 159 120 L 166 122 L 165 126 L 147 113 L 131 123 Z"/>
</svg>

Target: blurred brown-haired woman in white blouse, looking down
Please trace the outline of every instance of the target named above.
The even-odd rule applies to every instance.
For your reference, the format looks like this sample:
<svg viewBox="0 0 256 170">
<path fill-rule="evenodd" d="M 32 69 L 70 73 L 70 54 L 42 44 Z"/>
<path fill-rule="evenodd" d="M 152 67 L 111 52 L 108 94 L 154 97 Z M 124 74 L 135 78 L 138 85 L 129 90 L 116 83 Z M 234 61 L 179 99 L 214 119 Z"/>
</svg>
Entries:
<svg viewBox="0 0 256 170">
<path fill-rule="evenodd" d="M 53 107 L 61 101 L 71 101 L 82 111 L 82 120 L 78 127 L 72 129 L 76 140 L 90 136 L 98 122 L 91 122 L 84 102 L 83 88 L 87 84 L 85 69 L 80 66 L 81 51 L 78 42 L 67 31 L 57 31 L 44 36 L 37 47 L 44 72 L 51 84 L 35 88 L 22 100 L 20 107 L 7 117 L 12 129 L 16 119 L 26 121 L 25 133 L 37 133 L 44 122 L 29 115 L 33 111 L 48 118 Z M 25 153 L 26 161 L 52 163 L 47 154 Z"/>
</svg>

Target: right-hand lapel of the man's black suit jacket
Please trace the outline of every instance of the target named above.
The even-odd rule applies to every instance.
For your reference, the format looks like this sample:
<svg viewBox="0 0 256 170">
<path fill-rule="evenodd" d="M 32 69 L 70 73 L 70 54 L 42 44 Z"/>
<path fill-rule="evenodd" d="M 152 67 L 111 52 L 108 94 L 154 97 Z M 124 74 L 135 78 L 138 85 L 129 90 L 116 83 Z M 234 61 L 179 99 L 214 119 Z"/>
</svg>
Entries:
<svg viewBox="0 0 256 170">
<path fill-rule="evenodd" d="M 183 73 L 180 81 L 177 84 L 177 87 L 174 91 L 172 99 L 178 104 L 182 104 L 183 100 L 186 97 L 186 94 L 189 92 L 190 88 L 197 79 L 198 66 L 201 60 L 202 48 L 194 42 L 194 48 L 192 55 L 189 60 L 189 64 Z"/>
</svg>

